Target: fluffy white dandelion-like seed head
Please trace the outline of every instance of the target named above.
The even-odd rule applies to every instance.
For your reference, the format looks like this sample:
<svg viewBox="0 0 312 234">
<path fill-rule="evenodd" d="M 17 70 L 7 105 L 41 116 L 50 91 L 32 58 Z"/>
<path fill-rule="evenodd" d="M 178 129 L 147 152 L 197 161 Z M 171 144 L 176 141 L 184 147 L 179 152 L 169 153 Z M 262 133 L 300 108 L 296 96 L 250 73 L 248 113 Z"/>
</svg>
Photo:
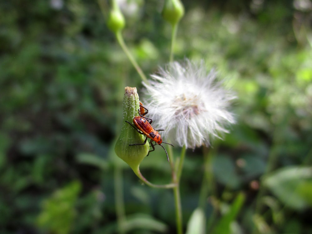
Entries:
<svg viewBox="0 0 312 234">
<path fill-rule="evenodd" d="M 173 62 L 145 84 L 149 114 L 154 127 L 172 143 L 194 149 L 208 146 L 211 137 L 227 133 L 235 122 L 228 111 L 235 95 L 222 85 L 214 70 L 207 72 L 204 62 Z"/>
</svg>

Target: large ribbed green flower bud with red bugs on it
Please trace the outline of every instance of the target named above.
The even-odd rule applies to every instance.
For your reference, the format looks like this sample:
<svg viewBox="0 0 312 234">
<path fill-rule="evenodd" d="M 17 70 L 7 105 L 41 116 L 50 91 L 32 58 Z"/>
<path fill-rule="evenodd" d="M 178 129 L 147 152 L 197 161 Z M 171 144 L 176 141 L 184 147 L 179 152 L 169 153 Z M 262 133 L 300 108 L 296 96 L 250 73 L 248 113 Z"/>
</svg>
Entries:
<svg viewBox="0 0 312 234">
<path fill-rule="evenodd" d="M 142 144 L 145 140 L 145 136 L 139 134 L 138 131 L 129 124 L 133 124 L 134 116 L 139 115 L 139 108 L 139 95 L 136 88 L 125 87 L 123 101 L 124 119 L 120 136 L 115 145 L 115 153 L 119 158 L 128 163 L 135 173 L 138 172 L 141 161 L 149 152 L 148 143 L 144 145 L 129 145 Z"/>
</svg>

